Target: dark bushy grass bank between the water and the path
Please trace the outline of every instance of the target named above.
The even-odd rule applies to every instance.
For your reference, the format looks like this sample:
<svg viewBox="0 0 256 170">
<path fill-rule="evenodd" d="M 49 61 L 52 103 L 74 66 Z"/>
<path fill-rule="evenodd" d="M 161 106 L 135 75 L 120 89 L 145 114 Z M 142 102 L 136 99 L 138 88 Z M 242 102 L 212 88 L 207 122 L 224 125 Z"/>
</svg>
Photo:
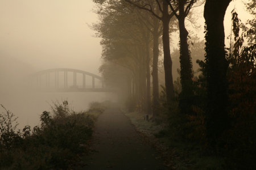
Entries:
<svg viewBox="0 0 256 170">
<path fill-rule="evenodd" d="M 68 169 L 85 152 L 94 122 L 108 105 L 93 102 L 87 111 L 74 112 L 67 101 L 56 102 L 52 112 L 41 114 L 40 126 L 18 131 L 14 114 L 5 109 L 0 116 L 0 169 Z"/>
</svg>

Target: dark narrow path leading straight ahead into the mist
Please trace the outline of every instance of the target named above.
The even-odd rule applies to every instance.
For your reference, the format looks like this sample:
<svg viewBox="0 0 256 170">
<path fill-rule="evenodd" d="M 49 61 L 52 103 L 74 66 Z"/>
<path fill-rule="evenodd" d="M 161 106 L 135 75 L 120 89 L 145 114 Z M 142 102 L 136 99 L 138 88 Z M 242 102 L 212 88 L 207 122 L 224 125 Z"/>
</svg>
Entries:
<svg viewBox="0 0 256 170">
<path fill-rule="evenodd" d="M 95 125 L 92 150 L 76 169 L 166 169 L 159 154 L 142 143 L 139 134 L 119 108 L 107 109 Z"/>
</svg>

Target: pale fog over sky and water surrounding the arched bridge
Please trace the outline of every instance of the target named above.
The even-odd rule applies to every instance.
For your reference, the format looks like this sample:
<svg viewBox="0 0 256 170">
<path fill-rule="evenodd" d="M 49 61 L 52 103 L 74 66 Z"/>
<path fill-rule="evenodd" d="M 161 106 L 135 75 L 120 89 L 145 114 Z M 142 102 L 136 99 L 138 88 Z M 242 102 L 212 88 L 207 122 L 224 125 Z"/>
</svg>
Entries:
<svg viewBox="0 0 256 170">
<path fill-rule="evenodd" d="M 68 100 L 75 111 L 82 111 L 91 101 L 109 100 L 103 92 L 43 93 L 23 88 L 27 75 L 46 69 L 101 76 L 100 39 L 92 37 L 87 25 L 97 22 L 92 8 L 90 0 L 0 0 L 0 104 L 19 117 L 18 129 L 38 125 L 39 115 L 51 111 L 52 101 Z"/>
</svg>

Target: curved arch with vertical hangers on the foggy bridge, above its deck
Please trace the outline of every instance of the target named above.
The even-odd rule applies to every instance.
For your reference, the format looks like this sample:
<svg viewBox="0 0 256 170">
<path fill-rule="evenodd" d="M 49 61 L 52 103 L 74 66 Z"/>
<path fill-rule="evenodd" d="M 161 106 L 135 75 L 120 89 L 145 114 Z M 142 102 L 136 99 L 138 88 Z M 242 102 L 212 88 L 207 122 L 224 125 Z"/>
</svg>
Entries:
<svg viewBox="0 0 256 170">
<path fill-rule="evenodd" d="M 70 78 L 68 77 L 68 73 L 72 72 L 73 73 L 73 85 L 68 86 L 68 80 Z M 53 76 L 52 76 L 53 74 Z M 62 83 L 60 83 L 59 75 L 63 74 L 64 75 L 64 81 L 61 80 Z M 77 74 L 82 74 L 82 86 L 79 87 L 77 86 Z M 62 75 L 62 77 L 63 77 Z M 85 86 L 85 75 L 91 76 L 92 77 L 92 88 L 87 88 Z M 96 86 L 95 86 L 95 79 L 100 80 L 102 83 L 101 85 L 101 91 L 104 88 L 104 79 L 101 76 L 89 73 L 87 71 L 82 71 L 82 70 L 77 70 L 77 69 L 48 69 L 48 70 L 42 70 L 38 71 L 36 73 L 32 73 L 27 76 L 29 86 L 30 88 L 36 88 L 36 89 L 42 89 L 42 77 L 44 76 L 44 90 L 55 90 L 55 91 L 95 91 Z M 50 79 L 51 77 L 51 79 Z M 50 88 L 50 82 L 52 83 L 52 79 L 54 86 Z M 61 85 L 60 85 L 61 84 Z M 64 85 L 64 86 L 63 86 Z M 100 89 L 97 88 L 99 91 Z"/>
</svg>

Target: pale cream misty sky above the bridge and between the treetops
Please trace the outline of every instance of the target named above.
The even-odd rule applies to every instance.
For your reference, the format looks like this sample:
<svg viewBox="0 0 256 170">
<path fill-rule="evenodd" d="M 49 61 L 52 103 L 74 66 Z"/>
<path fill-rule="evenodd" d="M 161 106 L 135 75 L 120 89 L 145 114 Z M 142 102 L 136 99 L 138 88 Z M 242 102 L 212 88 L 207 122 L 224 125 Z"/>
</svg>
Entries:
<svg viewBox="0 0 256 170">
<path fill-rule="evenodd" d="M 235 3 L 238 16 L 245 20 L 241 1 Z M 226 12 L 226 32 L 235 3 Z M 0 0 L 1 56 L 18 58 L 36 70 L 65 67 L 100 75 L 100 38 L 92 37 L 95 32 L 86 24 L 97 22 L 92 8 L 92 0 Z M 201 15 L 198 21 L 203 26 Z M 203 39 L 203 31 L 195 33 Z"/>
</svg>

